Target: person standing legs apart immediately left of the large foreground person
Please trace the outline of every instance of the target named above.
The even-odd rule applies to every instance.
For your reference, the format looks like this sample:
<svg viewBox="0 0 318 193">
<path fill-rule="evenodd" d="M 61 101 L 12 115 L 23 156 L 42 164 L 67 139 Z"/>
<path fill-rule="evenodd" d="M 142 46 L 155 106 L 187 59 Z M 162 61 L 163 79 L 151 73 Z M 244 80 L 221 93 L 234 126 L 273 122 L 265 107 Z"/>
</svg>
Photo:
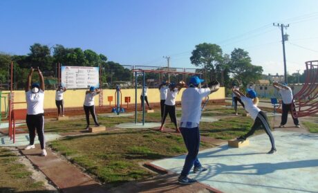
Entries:
<svg viewBox="0 0 318 193">
<path fill-rule="evenodd" d="M 176 96 L 178 95 L 183 85 L 184 84 L 180 84 L 179 86 L 177 86 L 174 82 L 171 82 L 171 84 L 169 84 L 169 89 L 167 91 L 167 98 L 165 100 L 165 107 L 163 110 L 164 113 L 161 120 L 160 131 L 163 131 L 163 125 L 165 124 L 165 120 L 169 113 L 170 120 L 171 122 L 174 123 L 174 126 L 176 127 L 176 132 L 180 133 L 178 129 L 177 117 L 176 117 Z"/>
</svg>

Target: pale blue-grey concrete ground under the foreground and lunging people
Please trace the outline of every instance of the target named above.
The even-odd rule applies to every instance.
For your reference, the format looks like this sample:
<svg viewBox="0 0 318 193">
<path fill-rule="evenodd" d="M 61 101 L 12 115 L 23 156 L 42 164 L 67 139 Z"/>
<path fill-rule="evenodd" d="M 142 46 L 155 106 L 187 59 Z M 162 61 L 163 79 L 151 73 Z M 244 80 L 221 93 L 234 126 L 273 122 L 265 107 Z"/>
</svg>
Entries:
<svg viewBox="0 0 318 193">
<path fill-rule="evenodd" d="M 266 134 L 250 138 L 250 145 L 227 145 L 200 151 L 200 162 L 208 168 L 191 173 L 200 183 L 222 192 L 318 192 L 318 135 L 300 131 L 273 131 L 276 154 Z M 151 164 L 180 173 L 185 156 Z"/>
</svg>

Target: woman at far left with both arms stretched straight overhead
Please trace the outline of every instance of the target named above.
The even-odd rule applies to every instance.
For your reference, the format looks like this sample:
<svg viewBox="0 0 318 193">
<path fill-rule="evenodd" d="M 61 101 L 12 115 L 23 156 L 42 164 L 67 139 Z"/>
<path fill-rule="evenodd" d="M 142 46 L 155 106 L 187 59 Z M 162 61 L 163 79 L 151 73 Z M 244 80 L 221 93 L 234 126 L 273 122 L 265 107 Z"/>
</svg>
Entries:
<svg viewBox="0 0 318 193">
<path fill-rule="evenodd" d="M 39 82 L 33 83 L 31 85 L 32 74 L 35 71 L 31 67 L 31 71 L 28 75 L 28 80 L 26 81 L 26 125 L 28 126 L 30 145 L 24 149 L 35 148 L 35 130 L 37 131 L 37 136 L 39 136 L 39 142 L 41 145 L 41 156 L 46 156 L 45 149 L 45 138 L 44 138 L 44 77 L 37 67 L 37 72 L 39 73 Z"/>
</svg>

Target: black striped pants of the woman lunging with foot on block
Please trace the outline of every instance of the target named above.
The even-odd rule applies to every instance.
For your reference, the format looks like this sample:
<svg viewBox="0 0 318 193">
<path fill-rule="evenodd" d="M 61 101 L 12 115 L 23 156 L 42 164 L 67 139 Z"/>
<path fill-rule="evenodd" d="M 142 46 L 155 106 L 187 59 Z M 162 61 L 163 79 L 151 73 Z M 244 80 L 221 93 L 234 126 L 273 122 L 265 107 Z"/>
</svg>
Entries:
<svg viewBox="0 0 318 193">
<path fill-rule="evenodd" d="M 266 114 L 263 111 L 259 111 L 259 114 L 257 114 L 257 117 L 255 119 L 254 125 L 252 126 L 252 129 L 248 131 L 247 134 L 244 135 L 245 138 L 248 138 L 254 134 L 256 129 L 259 129 L 259 127 L 263 127 L 266 134 L 268 134 L 268 137 L 270 138 L 270 143 L 272 144 L 272 149 L 275 148 L 275 140 L 272 136 L 272 132 L 270 132 L 270 124 L 268 124 L 268 118 Z"/>
</svg>

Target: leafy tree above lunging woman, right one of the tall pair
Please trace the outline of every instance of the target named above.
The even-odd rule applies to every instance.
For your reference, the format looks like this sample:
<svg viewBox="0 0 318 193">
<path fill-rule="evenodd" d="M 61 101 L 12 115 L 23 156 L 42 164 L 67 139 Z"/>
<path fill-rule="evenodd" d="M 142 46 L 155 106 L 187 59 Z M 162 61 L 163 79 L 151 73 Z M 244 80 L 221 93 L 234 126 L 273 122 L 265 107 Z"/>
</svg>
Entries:
<svg viewBox="0 0 318 193">
<path fill-rule="evenodd" d="M 231 53 L 230 61 L 227 63 L 229 72 L 232 73 L 234 78 L 241 80 L 244 86 L 261 79 L 263 67 L 254 66 L 251 62 L 247 51 L 235 48 Z"/>
</svg>

